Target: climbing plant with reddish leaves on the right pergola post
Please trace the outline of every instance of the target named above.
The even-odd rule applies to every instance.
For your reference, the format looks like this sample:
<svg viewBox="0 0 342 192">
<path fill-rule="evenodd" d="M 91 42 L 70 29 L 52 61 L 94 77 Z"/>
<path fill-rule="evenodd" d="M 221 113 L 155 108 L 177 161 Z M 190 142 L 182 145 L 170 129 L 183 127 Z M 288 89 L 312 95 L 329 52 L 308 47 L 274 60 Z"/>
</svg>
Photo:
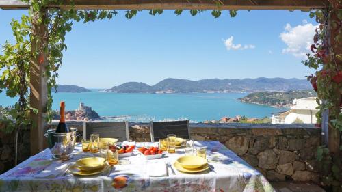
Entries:
<svg viewBox="0 0 342 192">
<path fill-rule="evenodd" d="M 304 65 L 317 70 L 308 76 L 313 89 L 317 92 L 319 113 L 317 122 L 321 126 L 322 114 L 328 110 L 328 127 L 336 134 L 341 143 L 342 133 L 342 10 L 340 0 L 330 0 L 330 7 L 310 13 L 319 23 L 313 37 L 311 52 Z M 332 134 L 330 133 L 330 134 Z M 321 161 L 322 182 L 333 191 L 342 191 L 342 146 L 337 151 L 330 151 L 327 146 L 320 146 L 317 159 Z"/>
</svg>

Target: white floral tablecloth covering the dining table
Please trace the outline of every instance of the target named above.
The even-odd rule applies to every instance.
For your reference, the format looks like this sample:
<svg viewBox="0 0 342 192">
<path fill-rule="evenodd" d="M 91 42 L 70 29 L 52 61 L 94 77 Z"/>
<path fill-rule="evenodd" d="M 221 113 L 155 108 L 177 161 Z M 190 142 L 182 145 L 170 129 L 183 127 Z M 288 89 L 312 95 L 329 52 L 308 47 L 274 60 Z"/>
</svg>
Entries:
<svg viewBox="0 0 342 192">
<path fill-rule="evenodd" d="M 146 146 L 152 143 L 136 143 Z M 271 184 L 256 169 L 248 165 L 218 141 L 200 141 L 196 146 L 207 146 L 211 169 L 200 174 L 168 172 L 167 176 L 150 176 L 150 169 L 174 163 L 184 150 L 166 154 L 161 159 L 146 160 L 139 152 L 124 158 L 127 165 L 115 165 L 96 176 L 73 176 L 67 165 L 86 156 L 81 144 L 75 146 L 73 158 L 66 162 L 53 161 L 49 149 L 31 156 L 23 163 L 0 175 L 0 191 L 274 191 Z M 162 163 L 161 163 L 162 162 Z M 66 167 L 66 168 L 65 168 Z"/>
</svg>

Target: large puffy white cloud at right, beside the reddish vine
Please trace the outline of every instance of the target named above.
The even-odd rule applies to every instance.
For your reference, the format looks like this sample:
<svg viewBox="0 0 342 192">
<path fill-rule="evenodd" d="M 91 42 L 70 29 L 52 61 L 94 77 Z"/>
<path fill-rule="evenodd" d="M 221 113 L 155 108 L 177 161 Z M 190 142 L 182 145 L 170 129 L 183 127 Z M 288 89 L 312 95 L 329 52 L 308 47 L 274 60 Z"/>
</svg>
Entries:
<svg viewBox="0 0 342 192">
<path fill-rule="evenodd" d="M 303 20 L 304 23 L 304 20 Z M 306 23 L 291 27 L 289 23 L 285 26 L 285 31 L 280 33 L 281 40 L 287 45 L 282 49 L 282 53 L 289 53 L 295 57 L 306 58 L 306 53 L 310 53 L 310 46 L 313 44 L 313 36 L 318 25 Z"/>
</svg>

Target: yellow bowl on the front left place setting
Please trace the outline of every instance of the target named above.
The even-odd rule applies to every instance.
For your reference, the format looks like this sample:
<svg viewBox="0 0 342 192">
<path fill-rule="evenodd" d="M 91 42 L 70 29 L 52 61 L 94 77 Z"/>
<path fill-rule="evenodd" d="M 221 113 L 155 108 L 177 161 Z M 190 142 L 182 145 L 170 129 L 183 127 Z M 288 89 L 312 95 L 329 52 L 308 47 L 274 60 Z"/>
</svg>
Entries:
<svg viewBox="0 0 342 192">
<path fill-rule="evenodd" d="M 92 171 L 100 169 L 101 167 L 105 166 L 106 163 L 107 159 L 102 157 L 87 157 L 77 160 L 75 165 L 82 171 Z"/>
</svg>

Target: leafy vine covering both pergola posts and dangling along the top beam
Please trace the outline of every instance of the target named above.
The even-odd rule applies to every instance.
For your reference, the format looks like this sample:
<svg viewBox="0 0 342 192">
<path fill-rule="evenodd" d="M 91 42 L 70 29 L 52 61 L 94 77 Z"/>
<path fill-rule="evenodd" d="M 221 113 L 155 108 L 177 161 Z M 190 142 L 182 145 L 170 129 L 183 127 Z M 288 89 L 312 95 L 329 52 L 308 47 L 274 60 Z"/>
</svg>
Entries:
<svg viewBox="0 0 342 192">
<path fill-rule="evenodd" d="M 62 3 L 62 0 L 23 0 L 26 3 L 31 3 L 29 15 L 23 15 L 21 22 L 12 20 L 12 31 L 16 39 L 15 44 L 5 42 L 3 47 L 3 55 L 0 55 L 0 70 L 3 74 L 0 77 L 0 92 L 5 90 L 10 97 L 18 96 L 19 100 L 12 109 L 3 109 L 2 118 L 0 119 L 1 130 L 6 132 L 18 131 L 18 128 L 32 124 L 31 113 L 37 113 L 37 109 L 33 109 L 29 105 L 29 63 L 31 57 L 38 57 L 40 64 L 44 62 L 44 54 L 47 54 L 47 72 L 44 74 L 48 79 L 48 102 L 47 102 L 47 120 L 52 118 L 52 102 L 53 98 L 51 91 L 56 87 L 56 79 L 58 70 L 62 65 L 63 51 L 66 51 L 65 36 L 72 29 L 74 21 L 83 21 L 83 23 L 92 22 L 95 20 L 111 19 L 118 14 L 116 10 L 60 10 L 55 8 L 47 9 L 49 3 Z M 220 10 L 221 1 L 214 1 L 218 8 L 211 11 L 214 18 L 222 15 Z M 319 123 L 321 122 L 321 113 L 325 109 L 329 109 L 329 126 L 342 131 L 342 72 L 341 72 L 341 51 L 338 48 L 332 47 L 328 41 L 330 34 L 328 31 L 337 31 L 333 41 L 334 44 L 341 45 L 341 1 L 330 0 L 329 10 L 318 10 L 311 12 L 310 16 L 316 18 L 321 23 L 317 33 L 314 36 L 314 44 L 311 46 L 313 55 L 308 54 L 308 60 L 303 63 L 318 70 L 315 74 L 308 77 L 311 81 L 314 90 L 320 100 L 320 112 L 317 113 Z M 137 16 L 142 10 L 127 10 L 124 16 L 127 19 L 132 19 Z M 192 16 L 196 16 L 205 10 L 189 10 Z M 148 10 L 150 15 L 160 15 L 163 10 Z M 181 15 L 183 10 L 174 10 L 174 14 Z M 229 15 L 235 17 L 237 10 L 229 10 Z M 332 19 L 332 16 L 335 18 Z M 37 36 L 34 33 L 33 25 L 42 23 L 47 26 L 47 34 Z M 31 43 L 39 42 L 43 38 L 48 38 L 47 50 L 34 49 L 32 52 Z M 328 148 L 322 146 L 318 150 L 317 158 L 320 161 L 328 162 L 327 165 L 331 172 L 324 175 L 324 184 L 334 186 L 334 190 L 341 189 L 341 164 L 338 164 L 336 156 L 332 156 Z"/>
</svg>

